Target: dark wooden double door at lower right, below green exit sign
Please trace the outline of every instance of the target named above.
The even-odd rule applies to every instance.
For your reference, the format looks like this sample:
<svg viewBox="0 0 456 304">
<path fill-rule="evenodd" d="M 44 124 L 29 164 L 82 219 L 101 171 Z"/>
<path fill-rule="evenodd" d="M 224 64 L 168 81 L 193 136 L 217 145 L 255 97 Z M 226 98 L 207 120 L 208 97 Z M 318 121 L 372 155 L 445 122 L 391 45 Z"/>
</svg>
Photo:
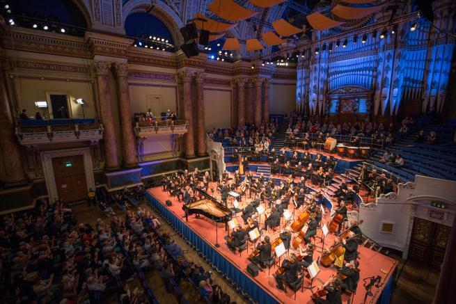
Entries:
<svg viewBox="0 0 456 304">
<path fill-rule="evenodd" d="M 448 226 L 415 218 L 409 259 L 430 266 L 440 266 L 445 256 L 450 230 Z"/>
</svg>

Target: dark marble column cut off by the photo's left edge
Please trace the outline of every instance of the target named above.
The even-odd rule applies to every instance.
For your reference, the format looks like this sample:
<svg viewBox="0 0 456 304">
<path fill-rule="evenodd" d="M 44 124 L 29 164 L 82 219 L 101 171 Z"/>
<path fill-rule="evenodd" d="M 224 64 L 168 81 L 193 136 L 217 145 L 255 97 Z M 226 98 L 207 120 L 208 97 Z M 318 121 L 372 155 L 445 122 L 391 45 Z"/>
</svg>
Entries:
<svg viewBox="0 0 456 304">
<path fill-rule="evenodd" d="M 0 149 L 5 167 L 4 182 L 6 186 L 15 186 L 26 182 L 26 176 L 15 138 L 15 124 L 7 92 L 4 65 L 0 58 Z"/>
</svg>

